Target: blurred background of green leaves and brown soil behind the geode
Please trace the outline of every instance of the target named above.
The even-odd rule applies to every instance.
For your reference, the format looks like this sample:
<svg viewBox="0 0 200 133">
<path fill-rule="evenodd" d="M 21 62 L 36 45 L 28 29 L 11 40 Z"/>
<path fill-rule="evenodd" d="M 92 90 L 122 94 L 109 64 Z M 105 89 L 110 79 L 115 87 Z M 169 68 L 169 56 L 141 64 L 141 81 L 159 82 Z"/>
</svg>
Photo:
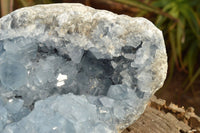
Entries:
<svg viewBox="0 0 200 133">
<path fill-rule="evenodd" d="M 156 96 L 200 115 L 200 0 L 0 0 L 4 16 L 36 4 L 82 3 L 132 17 L 142 16 L 163 31 L 168 76 Z"/>
</svg>

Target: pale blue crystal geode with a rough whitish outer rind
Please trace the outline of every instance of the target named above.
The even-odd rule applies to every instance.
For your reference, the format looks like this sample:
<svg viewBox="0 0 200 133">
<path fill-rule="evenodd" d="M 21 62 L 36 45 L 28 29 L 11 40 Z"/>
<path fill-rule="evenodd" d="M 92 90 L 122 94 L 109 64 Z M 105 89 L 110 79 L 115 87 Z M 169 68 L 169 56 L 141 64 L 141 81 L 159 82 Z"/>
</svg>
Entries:
<svg viewBox="0 0 200 133">
<path fill-rule="evenodd" d="M 166 78 L 162 32 L 81 4 L 0 19 L 1 133 L 116 133 Z"/>
</svg>

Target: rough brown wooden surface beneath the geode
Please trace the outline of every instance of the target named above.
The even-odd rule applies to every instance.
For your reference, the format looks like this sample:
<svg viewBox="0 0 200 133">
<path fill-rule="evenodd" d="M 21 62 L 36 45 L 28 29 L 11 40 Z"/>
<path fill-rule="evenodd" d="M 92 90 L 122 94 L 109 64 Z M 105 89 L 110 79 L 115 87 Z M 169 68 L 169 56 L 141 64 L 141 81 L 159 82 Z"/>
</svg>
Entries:
<svg viewBox="0 0 200 133">
<path fill-rule="evenodd" d="M 122 133 L 200 133 L 200 117 L 187 110 L 152 97 L 141 117 Z"/>
</svg>

